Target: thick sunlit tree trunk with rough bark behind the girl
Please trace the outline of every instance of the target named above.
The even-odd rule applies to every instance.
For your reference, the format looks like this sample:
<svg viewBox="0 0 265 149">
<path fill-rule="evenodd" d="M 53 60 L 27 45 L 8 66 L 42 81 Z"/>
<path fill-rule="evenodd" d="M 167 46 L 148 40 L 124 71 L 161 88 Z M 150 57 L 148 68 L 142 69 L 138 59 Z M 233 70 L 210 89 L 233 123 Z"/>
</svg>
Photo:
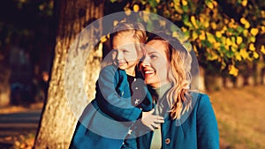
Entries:
<svg viewBox="0 0 265 149">
<path fill-rule="evenodd" d="M 84 55 L 81 49 L 87 45 L 85 42 L 89 44 L 96 42 L 92 40 L 93 35 L 102 34 L 102 24 L 90 27 L 90 30 L 86 31 L 89 37 L 79 32 L 88 23 L 102 18 L 103 3 L 93 0 L 58 0 L 55 2 L 58 19 L 55 57 L 49 81 L 48 98 L 34 143 L 34 148 L 37 149 L 68 148 L 79 114 L 88 102 L 81 97 L 80 92 L 89 91 L 87 99 L 92 100 L 95 94 L 95 80 L 100 71 L 101 55 L 97 51 L 99 49 L 94 48 L 89 56 Z M 75 64 L 72 65 L 72 63 Z M 73 74 L 76 71 L 79 73 Z M 85 87 L 79 86 L 85 81 L 79 82 L 80 79 L 83 80 L 83 72 L 86 74 Z M 69 101 L 72 99 L 74 99 L 72 104 L 76 107 L 70 107 Z"/>
</svg>

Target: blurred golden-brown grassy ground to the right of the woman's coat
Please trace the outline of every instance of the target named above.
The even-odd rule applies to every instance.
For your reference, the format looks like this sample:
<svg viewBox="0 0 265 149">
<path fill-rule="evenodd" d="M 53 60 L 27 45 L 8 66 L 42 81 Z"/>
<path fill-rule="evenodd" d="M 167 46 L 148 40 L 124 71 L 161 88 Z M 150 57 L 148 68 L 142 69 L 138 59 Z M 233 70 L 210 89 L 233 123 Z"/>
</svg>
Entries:
<svg viewBox="0 0 265 149">
<path fill-rule="evenodd" d="M 265 148 L 265 86 L 208 94 L 216 112 L 221 148 Z"/>
</svg>

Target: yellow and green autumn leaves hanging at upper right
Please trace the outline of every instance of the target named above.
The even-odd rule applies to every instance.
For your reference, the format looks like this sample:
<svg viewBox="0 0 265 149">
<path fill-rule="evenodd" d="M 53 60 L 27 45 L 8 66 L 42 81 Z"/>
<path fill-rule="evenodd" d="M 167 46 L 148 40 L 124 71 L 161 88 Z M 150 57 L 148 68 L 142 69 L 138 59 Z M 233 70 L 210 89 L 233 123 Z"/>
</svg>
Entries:
<svg viewBox="0 0 265 149">
<path fill-rule="evenodd" d="M 238 76 L 237 63 L 251 63 L 265 55 L 264 45 L 257 48 L 265 33 L 264 7 L 262 0 L 133 0 L 124 10 L 128 14 L 130 10 L 149 11 L 170 19 L 193 44 L 203 67 Z"/>
</svg>

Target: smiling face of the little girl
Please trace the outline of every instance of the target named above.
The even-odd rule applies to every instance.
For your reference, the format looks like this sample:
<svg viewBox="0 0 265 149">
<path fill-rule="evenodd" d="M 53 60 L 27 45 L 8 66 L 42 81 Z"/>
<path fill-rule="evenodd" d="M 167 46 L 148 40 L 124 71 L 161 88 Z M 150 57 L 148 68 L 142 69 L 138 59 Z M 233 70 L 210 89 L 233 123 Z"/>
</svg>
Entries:
<svg viewBox="0 0 265 149">
<path fill-rule="evenodd" d="M 117 35 L 113 39 L 113 53 L 115 63 L 121 70 L 125 70 L 128 75 L 135 75 L 135 66 L 139 62 L 137 49 L 133 42 L 133 35 Z"/>
</svg>

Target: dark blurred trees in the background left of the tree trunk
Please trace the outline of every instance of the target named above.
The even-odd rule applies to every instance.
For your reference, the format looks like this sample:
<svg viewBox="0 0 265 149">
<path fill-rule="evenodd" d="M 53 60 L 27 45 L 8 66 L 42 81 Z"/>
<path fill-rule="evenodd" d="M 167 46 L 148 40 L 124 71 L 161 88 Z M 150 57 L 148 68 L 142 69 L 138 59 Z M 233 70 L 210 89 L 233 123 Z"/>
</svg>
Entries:
<svg viewBox="0 0 265 149">
<path fill-rule="evenodd" d="M 0 5 L 0 106 L 44 100 L 57 26 L 53 9 L 53 0 Z"/>
</svg>

